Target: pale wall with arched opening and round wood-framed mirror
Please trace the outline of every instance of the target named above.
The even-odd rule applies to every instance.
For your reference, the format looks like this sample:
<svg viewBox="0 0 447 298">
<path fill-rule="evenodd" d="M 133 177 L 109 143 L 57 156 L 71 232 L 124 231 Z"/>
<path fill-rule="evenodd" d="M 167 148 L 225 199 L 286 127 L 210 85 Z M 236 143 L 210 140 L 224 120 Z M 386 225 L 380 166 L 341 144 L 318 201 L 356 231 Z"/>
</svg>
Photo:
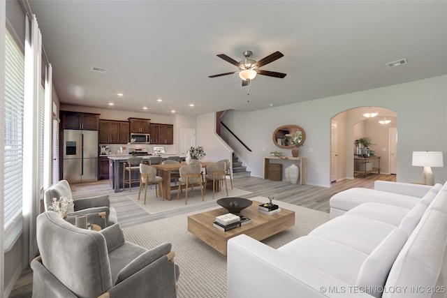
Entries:
<svg viewBox="0 0 447 298">
<path fill-rule="evenodd" d="M 447 130 L 446 98 L 447 75 L 441 75 L 255 112 L 228 111 L 223 116 L 223 123 L 253 149 L 249 152 L 240 146 L 233 148 L 256 177 L 263 177 L 263 157 L 278 150 L 272 142 L 274 129 L 285 124 L 298 124 L 306 131 L 300 156 L 307 157 L 307 183 L 330 186 L 330 119 L 353 107 L 385 107 L 397 112 L 399 117 L 397 181 L 415 182 L 420 181 L 423 169 L 411 166 L 412 151 L 444 151 L 446 160 L 447 140 L 443 137 Z M 346 140 L 354 140 L 353 132 L 348 135 L 350 125 L 353 123 L 346 123 Z M 291 156 L 290 149 L 279 151 Z M 352 168 L 349 158 L 346 158 L 346 164 Z M 446 167 L 432 170 L 435 182 L 447 180 Z"/>
</svg>

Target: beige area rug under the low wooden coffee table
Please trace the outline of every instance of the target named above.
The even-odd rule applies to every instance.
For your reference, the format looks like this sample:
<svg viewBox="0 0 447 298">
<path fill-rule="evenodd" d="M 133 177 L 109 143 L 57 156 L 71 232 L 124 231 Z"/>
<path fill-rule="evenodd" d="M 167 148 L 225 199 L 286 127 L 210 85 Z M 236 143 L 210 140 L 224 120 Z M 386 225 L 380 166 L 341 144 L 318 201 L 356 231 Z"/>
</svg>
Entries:
<svg viewBox="0 0 447 298">
<path fill-rule="evenodd" d="M 268 202 L 268 199 L 263 197 L 250 199 Z M 263 240 L 273 248 L 305 236 L 329 220 L 329 214 L 325 212 L 274 202 L 281 208 L 295 211 L 295 226 Z M 200 212 L 215 208 L 203 209 Z M 226 257 L 188 232 L 187 216 L 191 214 L 133 225 L 123 229 L 124 235 L 128 241 L 146 248 L 153 248 L 163 242 L 173 244 L 173 251 L 176 253 L 175 262 L 180 267 L 180 278 L 177 283 L 179 298 L 226 297 Z"/>
</svg>

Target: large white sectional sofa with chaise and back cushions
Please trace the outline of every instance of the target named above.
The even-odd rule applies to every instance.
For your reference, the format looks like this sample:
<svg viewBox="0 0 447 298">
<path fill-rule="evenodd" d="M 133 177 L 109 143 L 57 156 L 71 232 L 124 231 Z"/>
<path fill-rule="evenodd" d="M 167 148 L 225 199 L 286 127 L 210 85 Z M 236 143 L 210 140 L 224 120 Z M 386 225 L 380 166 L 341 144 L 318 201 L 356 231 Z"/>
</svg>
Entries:
<svg viewBox="0 0 447 298">
<path fill-rule="evenodd" d="M 447 297 L 447 182 L 378 181 L 330 204 L 330 221 L 280 248 L 230 239 L 228 297 Z"/>
</svg>

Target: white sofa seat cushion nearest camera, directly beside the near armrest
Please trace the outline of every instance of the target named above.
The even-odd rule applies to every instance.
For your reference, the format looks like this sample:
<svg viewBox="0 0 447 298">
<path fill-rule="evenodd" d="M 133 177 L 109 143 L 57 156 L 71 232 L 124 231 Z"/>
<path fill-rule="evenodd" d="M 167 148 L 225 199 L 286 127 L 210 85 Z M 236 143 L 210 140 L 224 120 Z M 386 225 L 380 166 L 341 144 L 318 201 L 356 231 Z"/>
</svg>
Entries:
<svg viewBox="0 0 447 298">
<path fill-rule="evenodd" d="M 367 254 L 355 248 L 314 236 L 297 238 L 277 250 L 349 285 L 356 283 L 358 271 L 367 258 Z"/>
</svg>

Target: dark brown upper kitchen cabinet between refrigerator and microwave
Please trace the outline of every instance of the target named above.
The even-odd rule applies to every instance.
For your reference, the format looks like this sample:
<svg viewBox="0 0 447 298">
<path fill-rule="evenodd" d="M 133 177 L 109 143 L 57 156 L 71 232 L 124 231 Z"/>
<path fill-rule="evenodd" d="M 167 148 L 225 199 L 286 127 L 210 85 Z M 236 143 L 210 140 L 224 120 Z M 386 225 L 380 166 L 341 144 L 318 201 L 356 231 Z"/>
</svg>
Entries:
<svg viewBox="0 0 447 298">
<path fill-rule="evenodd" d="M 129 142 L 129 122 L 127 121 L 99 121 L 100 144 L 127 144 Z"/>
</svg>

